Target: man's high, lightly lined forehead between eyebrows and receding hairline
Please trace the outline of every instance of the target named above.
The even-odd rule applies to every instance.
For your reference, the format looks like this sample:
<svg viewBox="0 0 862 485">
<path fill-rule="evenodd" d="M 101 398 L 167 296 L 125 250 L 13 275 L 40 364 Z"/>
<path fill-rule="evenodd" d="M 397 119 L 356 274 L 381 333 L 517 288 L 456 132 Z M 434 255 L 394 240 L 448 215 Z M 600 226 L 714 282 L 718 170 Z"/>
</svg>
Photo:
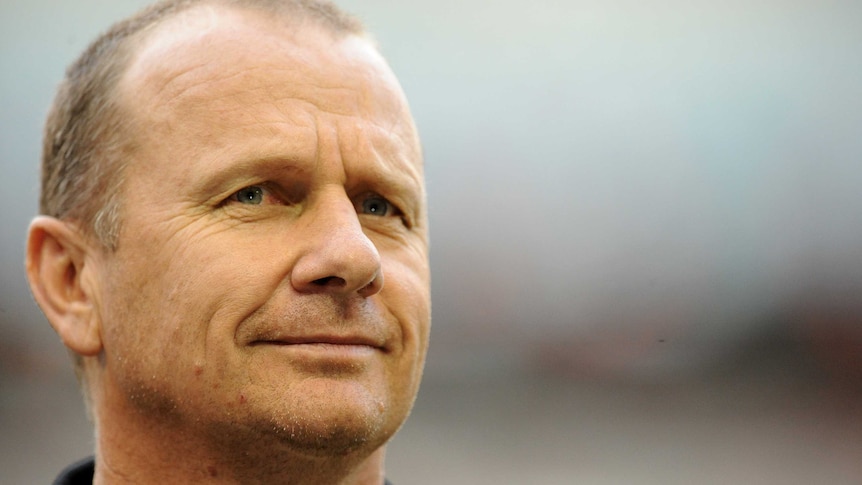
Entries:
<svg viewBox="0 0 862 485">
<path fill-rule="evenodd" d="M 367 39 L 257 11 L 199 6 L 145 32 L 118 97 L 144 123 L 202 111 L 241 118 L 249 107 L 283 118 L 305 103 L 370 122 L 421 158 L 403 92 Z"/>
</svg>

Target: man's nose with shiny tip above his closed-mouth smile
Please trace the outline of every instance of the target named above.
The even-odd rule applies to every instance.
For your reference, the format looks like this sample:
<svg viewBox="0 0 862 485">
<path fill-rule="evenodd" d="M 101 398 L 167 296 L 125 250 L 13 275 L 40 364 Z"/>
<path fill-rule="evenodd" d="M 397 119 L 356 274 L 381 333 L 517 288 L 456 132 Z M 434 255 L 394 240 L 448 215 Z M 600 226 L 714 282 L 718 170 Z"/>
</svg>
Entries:
<svg viewBox="0 0 862 485">
<path fill-rule="evenodd" d="M 296 291 L 367 298 L 383 288 L 380 254 L 346 194 L 319 197 L 302 218 L 302 251 L 290 273 Z"/>
</svg>

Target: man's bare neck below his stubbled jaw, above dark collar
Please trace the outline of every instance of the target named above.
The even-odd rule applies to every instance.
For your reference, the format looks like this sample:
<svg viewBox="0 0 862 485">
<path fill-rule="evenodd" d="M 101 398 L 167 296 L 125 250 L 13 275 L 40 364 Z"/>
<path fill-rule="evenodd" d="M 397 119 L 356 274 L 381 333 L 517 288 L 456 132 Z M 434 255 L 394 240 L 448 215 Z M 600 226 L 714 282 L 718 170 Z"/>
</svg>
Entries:
<svg viewBox="0 0 862 485">
<path fill-rule="evenodd" d="M 201 432 L 194 423 L 134 409 L 102 390 L 94 402 L 94 484 L 383 483 L 384 448 L 342 456 L 309 455 L 272 437 Z"/>
</svg>

